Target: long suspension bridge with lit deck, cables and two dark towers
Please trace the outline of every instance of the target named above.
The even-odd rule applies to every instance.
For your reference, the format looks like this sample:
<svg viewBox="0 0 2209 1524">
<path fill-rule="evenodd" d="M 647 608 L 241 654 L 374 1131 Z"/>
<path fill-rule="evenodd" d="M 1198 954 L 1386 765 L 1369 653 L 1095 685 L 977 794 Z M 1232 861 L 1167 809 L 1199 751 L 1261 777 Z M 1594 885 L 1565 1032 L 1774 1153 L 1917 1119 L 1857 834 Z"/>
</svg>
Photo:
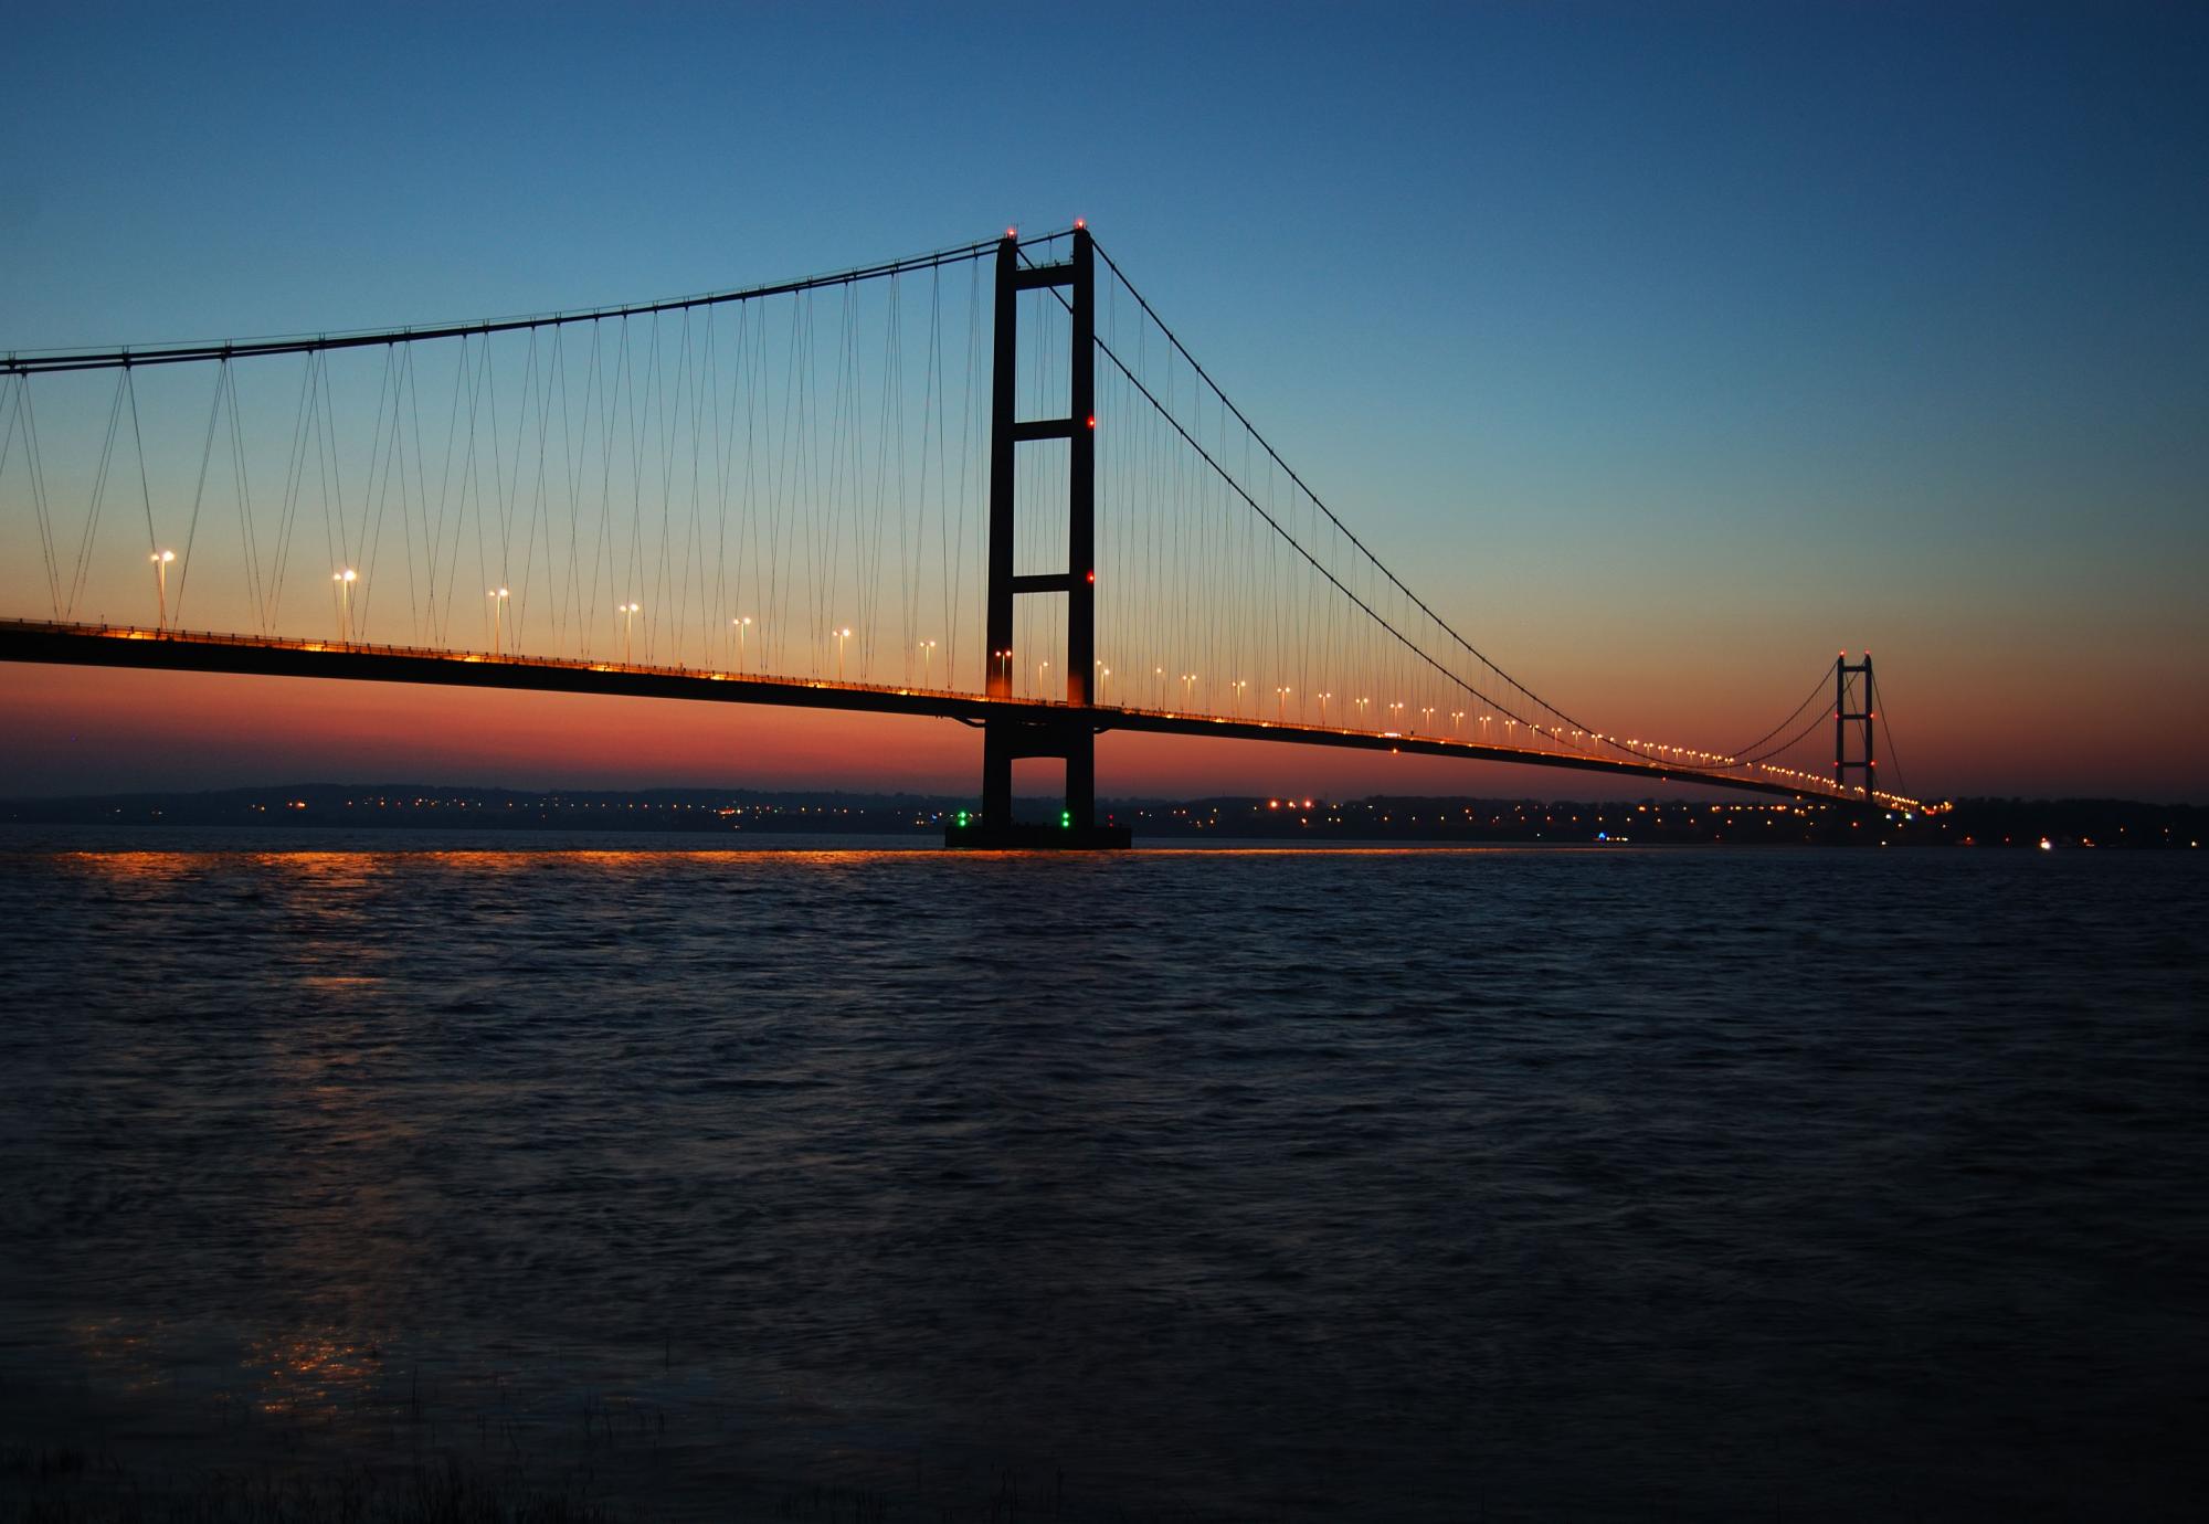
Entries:
<svg viewBox="0 0 2209 1524">
<path fill-rule="evenodd" d="M 1924 808 L 1880 786 L 1869 654 L 1723 751 L 1504 671 L 1080 223 L 625 307 L 9 351 L 0 660 L 937 716 L 983 733 L 981 846 L 1124 839 L 1104 731 Z M 1023 758 L 1065 766 L 1058 819 L 1014 819 Z"/>
</svg>

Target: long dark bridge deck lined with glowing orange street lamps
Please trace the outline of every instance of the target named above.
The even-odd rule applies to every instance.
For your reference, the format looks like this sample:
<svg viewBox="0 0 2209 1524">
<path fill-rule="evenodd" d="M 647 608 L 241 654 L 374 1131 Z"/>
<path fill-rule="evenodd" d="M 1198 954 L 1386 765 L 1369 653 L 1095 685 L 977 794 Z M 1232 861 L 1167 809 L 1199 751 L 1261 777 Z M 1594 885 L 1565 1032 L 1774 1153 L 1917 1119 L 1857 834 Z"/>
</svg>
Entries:
<svg viewBox="0 0 2209 1524">
<path fill-rule="evenodd" d="M 278 636 L 210 634 L 188 629 L 139 629 L 130 625 L 71 625 L 0 618 L 0 660 L 53 663 L 71 667 L 146 667 L 157 671 L 236 671 L 269 678 L 347 678 L 353 682 L 442 682 L 451 687 L 504 687 L 543 694 L 625 694 L 630 698 L 689 698 L 733 705 L 793 705 L 800 709 L 850 709 L 859 713 L 915 713 L 981 724 L 987 718 L 1018 718 L 1047 724 L 1087 720 L 1098 731 L 1146 731 L 1155 735 L 1211 735 L 1235 740 L 1294 742 L 1306 747 L 1350 747 L 1471 762 L 1518 762 L 1564 766 L 1582 773 L 1650 777 L 1657 782 L 1708 784 L 1783 800 L 1838 800 L 1856 795 L 1794 782 L 1765 782 L 1685 766 L 1659 766 L 1615 758 L 1495 747 L 1449 735 L 1394 735 L 1330 724 L 1286 720 L 1235 720 L 1096 705 L 1076 709 L 1040 698 L 983 698 L 879 682 L 828 682 L 820 678 L 773 678 L 764 674 L 698 671 L 691 667 L 638 667 L 623 663 L 563 660 L 554 656 L 490 656 L 486 652 L 440 652 L 404 645 L 342 645 L 338 641 L 292 641 Z"/>
</svg>

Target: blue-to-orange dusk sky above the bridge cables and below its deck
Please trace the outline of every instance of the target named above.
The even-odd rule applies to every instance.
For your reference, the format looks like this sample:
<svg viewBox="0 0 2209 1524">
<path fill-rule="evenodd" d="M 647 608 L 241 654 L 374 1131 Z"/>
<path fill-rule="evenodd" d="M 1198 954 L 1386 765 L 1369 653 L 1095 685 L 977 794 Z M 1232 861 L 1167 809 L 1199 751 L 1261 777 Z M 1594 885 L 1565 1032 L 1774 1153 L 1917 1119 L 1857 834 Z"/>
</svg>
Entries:
<svg viewBox="0 0 2209 1524">
<path fill-rule="evenodd" d="M 4 349 L 1082 216 L 1383 561 L 1617 733 L 1738 744 L 1871 647 L 1913 793 L 2209 800 L 2200 7 L 44 7 L 9 38 Z M 0 667 L 0 795 L 976 775 L 945 722 Z M 1100 751 L 1104 793 L 1590 786 Z"/>
</svg>

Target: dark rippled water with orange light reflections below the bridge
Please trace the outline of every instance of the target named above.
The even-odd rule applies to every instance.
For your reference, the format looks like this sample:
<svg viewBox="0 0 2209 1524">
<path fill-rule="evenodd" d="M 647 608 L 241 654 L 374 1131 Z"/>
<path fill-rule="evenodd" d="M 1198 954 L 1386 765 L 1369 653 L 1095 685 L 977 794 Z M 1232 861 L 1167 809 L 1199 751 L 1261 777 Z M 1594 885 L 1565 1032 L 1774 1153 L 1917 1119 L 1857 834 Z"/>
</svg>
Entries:
<svg viewBox="0 0 2209 1524">
<path fill-rule="evenodd" d="M 2209 1495 L 2196 855 L 71 839 L 0 850 L 18 1453 L 680 1517 Z"/>
</svg>

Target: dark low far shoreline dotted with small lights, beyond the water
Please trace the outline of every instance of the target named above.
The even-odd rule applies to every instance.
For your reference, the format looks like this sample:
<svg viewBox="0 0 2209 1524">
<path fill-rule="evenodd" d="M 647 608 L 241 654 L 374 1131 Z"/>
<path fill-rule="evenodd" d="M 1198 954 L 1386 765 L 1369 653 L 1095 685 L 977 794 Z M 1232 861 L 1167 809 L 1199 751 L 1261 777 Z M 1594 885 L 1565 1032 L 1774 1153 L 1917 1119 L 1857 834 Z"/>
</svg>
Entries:
<svg viewBox="0 0 2209 1524">
<path fill-rule="evenodd" d="M 1056 817 L 1054 800 L 1025 815 Z M 294 784 L 0 802 L 27 826 L 314 826 L 435 830 L 636 830 L 711 835 L 926 835 L 974 802 L 908 793 L 652 789 L 524 793 L 431 784 Z M 2050 846 L 2198 848 L 2209 808 L 2134 800 L 1957 800 L 1931 815 L 1825 802 L 1480 800 L 1462 795 L 1107 800 L 1144 839 L 1544 842 L 1641 846 Z"/>
</svg>

